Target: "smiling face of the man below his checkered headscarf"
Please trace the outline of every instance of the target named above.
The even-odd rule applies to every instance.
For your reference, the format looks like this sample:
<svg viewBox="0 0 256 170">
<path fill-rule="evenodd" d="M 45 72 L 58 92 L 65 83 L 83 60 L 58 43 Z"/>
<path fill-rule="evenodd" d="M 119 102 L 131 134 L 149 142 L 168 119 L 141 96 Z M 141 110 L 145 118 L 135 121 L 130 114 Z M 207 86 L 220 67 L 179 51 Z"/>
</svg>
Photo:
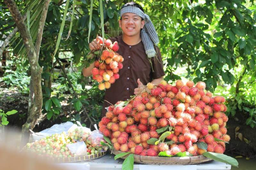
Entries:
<svg viewBox="0 0 256 170">
<path fill-rule="evenodd" d="M 119 27 L 122 28 L 123 33 L 127 36 L 134 36 L 140 34 L 140 29 L 145 25 L 145 21 L 138 15 L 133 13 L 125 13 L 122 20 L 119 20 Z"/>
</svg>

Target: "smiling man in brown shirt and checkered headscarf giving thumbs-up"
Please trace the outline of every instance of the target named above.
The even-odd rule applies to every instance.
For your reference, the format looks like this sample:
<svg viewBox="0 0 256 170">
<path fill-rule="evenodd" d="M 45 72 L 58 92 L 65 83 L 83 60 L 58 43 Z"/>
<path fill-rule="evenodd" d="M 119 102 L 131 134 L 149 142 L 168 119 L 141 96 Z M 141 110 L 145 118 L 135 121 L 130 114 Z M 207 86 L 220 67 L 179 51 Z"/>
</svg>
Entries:
<svg viewBox="0 0 256 170">
<path fill-rule="evenodd" d="M 164 76 L 161 53 L 156 46 L 159 42 L 156 30 L 143 8 L 136 3 L 127 3 L 121 8 L 119 26 L 123 35 L 110 38 L 117 41 L 119 50 L 117 53 L 124 57 L 123 69 L 119 71 L 120 78 L 106 89 L 104 99 L 115 104 L 119 100 L 129 100 L 130 96 L 138 94 L 144 89 L 143 85 L 151 82 L 158 85 Z M 93 40 L 89 47 L 98 50 L 100 43 Z M 92 64 L 83 69 L 84 76 L 90 76 Z M 110 104 L 104 102 L 102 117 Z"/>
</svg>

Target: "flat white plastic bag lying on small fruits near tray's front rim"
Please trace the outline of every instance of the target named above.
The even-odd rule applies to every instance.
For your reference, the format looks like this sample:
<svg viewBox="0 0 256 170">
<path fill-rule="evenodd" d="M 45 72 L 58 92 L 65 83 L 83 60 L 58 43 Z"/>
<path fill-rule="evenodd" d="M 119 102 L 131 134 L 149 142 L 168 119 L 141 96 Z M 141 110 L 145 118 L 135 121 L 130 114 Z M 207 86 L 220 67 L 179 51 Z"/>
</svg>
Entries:
<svg viewBox="0 0 256 170">
<path fill-rule="evenodd" d="M 87 147 L 84 141 L 67 144 L 67 147 L 75 157 L 87 155 Z"/>
</svg>

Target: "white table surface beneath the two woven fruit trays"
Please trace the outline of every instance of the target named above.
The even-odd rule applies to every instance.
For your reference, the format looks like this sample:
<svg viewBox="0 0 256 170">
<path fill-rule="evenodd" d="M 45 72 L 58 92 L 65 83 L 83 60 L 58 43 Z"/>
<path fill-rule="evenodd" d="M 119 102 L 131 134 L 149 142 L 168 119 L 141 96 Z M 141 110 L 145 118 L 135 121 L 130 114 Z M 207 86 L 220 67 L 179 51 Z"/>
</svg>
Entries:
<svg viewBox="0 0 256 170">
<path fill-rule="evenodd" d="M 94 159 L 86 162 L 77 162 L 77 163 L 67 163 L 68 167 L 72 170 L 76 170 L 75 167 L 80 167 L 78 170 L 88 169 L 88 163 L 90 165 L 90 170 L 121 170 L 123 159 L 116 159 L 114 160 L 115 155 L 111 155 L 107 153 L 107 155 L 99 158 Z M 66 165 L 67 165 L 66 164 Z M 78 165 L 79 164 L 79 165 Z M 84 165 L 81 165 L 84 164 Z M 84 166 L 84 168 L 81 168 Z M 67 167 L 67 166 L 66 166 Z M 134 170 L 157 170 L 158 169 L 173 169 L 173 170 L 230 170 L 231 165 L 218 162 L 218 161 L 209 161 L 201 164 L 196 165 L 146 165 L 146 164 L 137 164 L 134 163 L 133 166 Z"/>
</svg>

